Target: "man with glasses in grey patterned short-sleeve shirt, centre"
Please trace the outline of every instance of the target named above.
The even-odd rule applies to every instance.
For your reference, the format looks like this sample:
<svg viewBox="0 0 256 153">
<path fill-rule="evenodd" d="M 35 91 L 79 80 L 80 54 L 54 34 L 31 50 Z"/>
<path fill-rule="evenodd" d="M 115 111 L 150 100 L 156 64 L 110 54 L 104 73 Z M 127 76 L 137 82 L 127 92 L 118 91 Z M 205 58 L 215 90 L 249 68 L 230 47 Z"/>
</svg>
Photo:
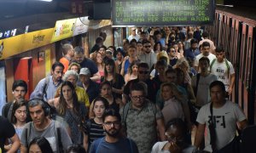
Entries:
<svg viewBox="0 0 256 153">
<path fill-rule="evenodd" d="M 160 139 L 166 139 L 163 115 L 159 107 L 145 98 L 146 92 L 145 83 L 133 84 L 131 101 L 120 110 L 127 137 L 136 142 L 140 153 L 151 152 L 157 129 Z"/>
</svg>

